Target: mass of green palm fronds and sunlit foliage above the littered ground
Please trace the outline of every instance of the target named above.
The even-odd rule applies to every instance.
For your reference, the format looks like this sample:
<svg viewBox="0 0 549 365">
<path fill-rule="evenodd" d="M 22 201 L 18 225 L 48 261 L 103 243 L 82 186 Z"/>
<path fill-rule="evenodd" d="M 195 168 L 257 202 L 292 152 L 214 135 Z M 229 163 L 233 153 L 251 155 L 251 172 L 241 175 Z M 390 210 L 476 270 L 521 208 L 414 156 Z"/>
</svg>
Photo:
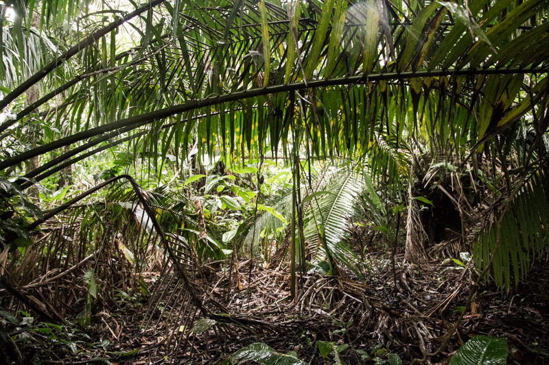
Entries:
<svg viewBox="0 0 549 365">
<path fill-rule="evenodd" d="M 0 100 L 0 243 L 30 247 L 27 227 L 43 211 L 128 173 L 149 192 L 170 244 L 199 261 L 260 239 L 277 244 L 292 221 L 292 168 L 264 173 L 270 151 L 271 164 L 307 160 L 294 181 L 299 243 L 320 242 L 319 270 L 337 261 L 360 277 L 344 240 L 349 220 L 388 238 L 407 184 L 423 186 L 425 196 L 411 198 L 422 209 L 441 208 L 427 193 L 466 175 L 470 210 L 487 217 L 472 250 L 478 268 L 493 257 L 496 284 L 509 288 L 546 249 L 549 187 L 537 171 L 547 149 L 546 1 L 152 1 L 121 26 L 126 10 L 142 8 L 131 3 L 104 1 L 100 12 L 89 0 L 6 3 L 15 16 L 1 24 L 0 92 L 22 89 Z M 75 39 L 91 41 L 60 57 Z M 27 79 L 38 106 L 23 97 Z M 328 158 L 333 171 L 316 174 L 314 161 Z M 69 166 L 78 181 L 57 186 Z M 25 193 L 37 183 L 40 203 Z M 132 255 L 154 236 L 152 217 L 126 186 L 100 194 L 104 209 L 90 199 L 68 221 L 82 219 L 95 245 L 109 230 L 105 216 L 143 228 L 139 242 L 119 244 L 143 264 Z"/>
</svg>

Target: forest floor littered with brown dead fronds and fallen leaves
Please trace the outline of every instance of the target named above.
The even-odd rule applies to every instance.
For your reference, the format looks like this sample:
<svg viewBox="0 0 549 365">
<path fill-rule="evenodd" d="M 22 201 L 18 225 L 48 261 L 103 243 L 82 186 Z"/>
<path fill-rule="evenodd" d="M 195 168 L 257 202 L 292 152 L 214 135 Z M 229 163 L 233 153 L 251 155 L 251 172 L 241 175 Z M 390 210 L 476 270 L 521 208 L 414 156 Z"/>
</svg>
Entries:
<svg viewBox="0 0 549 365">
<path fill-rule="evenodd" d="M 204 298 L 266 325 L 233 326 L 222 336 L 212 328 L 196 334 L 190 349 L 176 355 L 165 346 L 169 336 L 161 328 L 167 325 L 140 329 L 148 307 L 148 297 L 141 295 L 113 299 L 110 307 L 91 316 L 85 329 L 73 322 L 49 326 L 49 332 L 38 327 L 10 334 L 25 364 L 163 364 L 169 355 L 176 364 L 215 364 L 255 342 L 280 353 L 294 351 L 309 364 L 384 364 L 390 353 L 409 364 L 439 348 L 463 312 L 476 274 L 452 260 L 425 262 L 421 268 L 397 264 L 393 271 L 389 258 L 370 253 L 364 281 L 343 272 L 340 277 L 303 275 L 295 301 L 288 300 L 287 270 L 255 264 L 249 273 L 249 260 L 240 262 L 242 290 L 229 290 L 219 264 L 203 266 L 205 277 L 197 284 Z M 160 285 L 158 275 L 145 275 L 149 290 Z M 469 338 L 489 335 L 507 339 L 508 364 L 549 364 L 548 284 L 545 260 L 509 292 L 479 288 L 458 331 L 430 362 L 447 364 Z"/>
</svg>

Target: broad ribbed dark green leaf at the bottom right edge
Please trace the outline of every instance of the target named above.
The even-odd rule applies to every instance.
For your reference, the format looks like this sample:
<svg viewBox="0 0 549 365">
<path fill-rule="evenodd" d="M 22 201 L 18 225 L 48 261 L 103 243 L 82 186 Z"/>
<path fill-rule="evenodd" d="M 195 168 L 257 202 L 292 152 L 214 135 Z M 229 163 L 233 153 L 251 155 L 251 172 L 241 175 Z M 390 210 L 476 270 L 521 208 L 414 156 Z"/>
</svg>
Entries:
<svg viewBox="0 0 549 365">
<path fill-rule="evenodd" d="M 475 336 L 458 349 L 450 365 L 503 365 L 507 364 L 507 351 L 506 338 Z"/>
</svg>

